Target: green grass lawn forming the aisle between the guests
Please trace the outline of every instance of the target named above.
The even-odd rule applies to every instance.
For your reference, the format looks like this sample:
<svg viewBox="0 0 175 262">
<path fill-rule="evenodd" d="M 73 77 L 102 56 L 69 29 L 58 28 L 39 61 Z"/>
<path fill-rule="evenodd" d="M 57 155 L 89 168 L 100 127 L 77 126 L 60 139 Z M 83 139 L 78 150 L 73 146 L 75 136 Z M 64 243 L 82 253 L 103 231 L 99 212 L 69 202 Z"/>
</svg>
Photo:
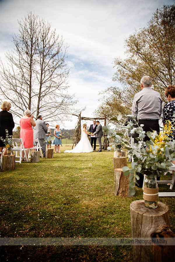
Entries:
<svg viewBox="0 0 175 262">
<path fill-rule="evenodd" d="M 63 153 L 1 175 L 1 237 L 131 237 L 130 203 L 113 194 L 113 152 Z M 98 150 L 98 148 L 97 148 Z M 165 177 L 164 179 L 169 179 Z M 159 191 L 170 191 L 160 185 Z M 162 197 L 175 232 L 174 198 Z M 133 261 L 131 246 L 8 246 L 1 261 Z"/>
</svg>

